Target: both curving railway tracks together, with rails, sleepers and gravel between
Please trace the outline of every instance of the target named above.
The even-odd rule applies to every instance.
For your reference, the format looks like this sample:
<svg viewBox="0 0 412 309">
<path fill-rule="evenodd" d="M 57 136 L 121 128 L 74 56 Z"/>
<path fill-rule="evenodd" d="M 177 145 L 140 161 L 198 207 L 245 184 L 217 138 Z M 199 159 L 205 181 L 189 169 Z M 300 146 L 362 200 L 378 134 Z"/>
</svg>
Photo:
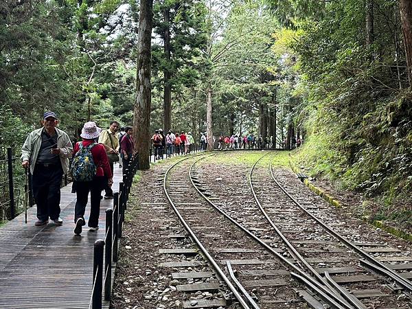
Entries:
<svg viewBox="0 0 412 309">
<path fill-rule="evenodd" d="M 211 180 L 204 157 L 185 158 L 162 177 L 183 227 L 170 235 L 176 247 L 161 251 L 179 256 L 168 266 L 185 308 L 412 308 L 410 252 L 388 247 L 374 230 L 343 225 L 299 181 L 290 183 L 290 173 L 268 167 L 270 157 L 255 161 L 249 175 L 235 173 L 236 196 L 204 184 Z M 185 263 L 188 255 L 197 266 Z"/>
</svg>

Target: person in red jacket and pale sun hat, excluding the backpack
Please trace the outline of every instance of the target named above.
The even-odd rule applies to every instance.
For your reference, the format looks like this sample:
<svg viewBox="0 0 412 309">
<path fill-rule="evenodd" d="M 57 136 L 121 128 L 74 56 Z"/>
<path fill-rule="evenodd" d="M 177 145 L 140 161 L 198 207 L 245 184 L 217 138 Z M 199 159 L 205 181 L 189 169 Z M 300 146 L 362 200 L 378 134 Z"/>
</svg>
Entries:
<svg viewBox="0 0 412 309">
<path fill-rule="evenodd" d="M 87 200 L 90 192 L 90 216 L 89 216 L 89 229 L 90 231 L 97 231 L 99 229 L 99 215 L 100 215 L 100 195 L 105 185 L 111 185 L 113 183 L 113 174 L 111 172 L 106 150 L 102 144 L 97 144 L 97 139 L 102 131 L 98 128 L 94 122 L 86 122 L 82 128 L 82 141 L 78 141 L 73 149 L 73 156 L 80 150 L 80 144 L 83 147 L 95 144 L 91 148 L 91 155 L 93 161 L 97 167 L 95 177 L 93 181 L 77 181 L 76 182 L 76 195 L 77 201 L 74 207 L 74 222 L 76 227 L 74 233 L 80 235 L 82 233 L 82 227 L 85 225 L 84 211 L 86 211 Z"/>
</svg>

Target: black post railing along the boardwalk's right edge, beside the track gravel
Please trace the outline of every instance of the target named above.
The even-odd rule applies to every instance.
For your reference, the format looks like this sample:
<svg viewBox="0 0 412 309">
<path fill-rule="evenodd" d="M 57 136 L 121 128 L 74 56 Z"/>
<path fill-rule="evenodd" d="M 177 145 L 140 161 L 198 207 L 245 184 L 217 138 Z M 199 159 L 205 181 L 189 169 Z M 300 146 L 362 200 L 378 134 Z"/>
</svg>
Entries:
<svg viewBox="0 0 412 309">
<path fill-rule="evenodd" d="M 93 290 L 89 309 L 101 309 L 102 300 L 111 300 L 112 267 L 119 255 L 119 240 L 122 238 L 124 211 L 128 201 L 128 192 L 133 183 L 133 176 L 138 168 L 137 155 L 130 158 L 128 168 L 119 183 L 119 192 L 115 192 L 113 209 L 106 209 L 106 233 L 104 240 L 96 240 L 93 254 Z M 104 276 L 102 273 L 104 259 Z M 104 291 L 104 298 L 102 292 Z"/>
</svg>

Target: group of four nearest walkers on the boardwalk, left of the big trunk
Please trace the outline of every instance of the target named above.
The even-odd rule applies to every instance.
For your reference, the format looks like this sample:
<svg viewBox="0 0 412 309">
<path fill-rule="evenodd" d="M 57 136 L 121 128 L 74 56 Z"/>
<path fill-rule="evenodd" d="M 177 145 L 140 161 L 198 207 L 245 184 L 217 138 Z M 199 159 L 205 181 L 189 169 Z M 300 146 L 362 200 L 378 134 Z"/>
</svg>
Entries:
<svg viewBox="0 0 412 309">
<path fill-rule="evenodd" d="M 87 222 L 89 231 L 99 229 L 100 200 L 113 198 L 113 164 L 122 159 L 125 167 L 133 155 L 133 129 L 119 130 L 118 122 L 111 122 L 106 130 L 95 122 L 86 122 L 82 128 L 82 141 L 74 147 L 69 135 L 56 126 L 56 114 L 43 115 L 43 127 L 27 136 L 21 150 L 23 168 L 30 168 L 32 190 L 37 205 L 36 226 L 43 226 L 49 219 L 62 225 L 60 218 L 60 183 L 63 174 L 73 176 L 72 192 L 76 192 L 73 220 L 74 233 L 80 235 L 86 225 L 84 213 L 90 193 L 91 209 Z M 72 159 L 71 165 L 69 159 Z M 122 164 L 120 164 L 122 165 Z M 102 191 L 105 195 L 102 196 Z"/>
</svg>

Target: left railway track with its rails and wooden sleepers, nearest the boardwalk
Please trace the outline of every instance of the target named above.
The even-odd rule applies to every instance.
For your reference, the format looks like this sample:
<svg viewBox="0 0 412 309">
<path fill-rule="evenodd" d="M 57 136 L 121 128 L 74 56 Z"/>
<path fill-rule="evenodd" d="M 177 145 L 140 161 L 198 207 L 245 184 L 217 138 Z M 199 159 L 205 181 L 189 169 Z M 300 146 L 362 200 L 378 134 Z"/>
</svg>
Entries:
<svg viewBox="0 0 412 309">
<path fill-rule="evenodd" d="M 239 222 L 222 211 L 216 203 L 213 203 L 212 197 L 205 194 L 205 188 L 201 186 L 201 181 L 194 173 L 190 172 L 195 163 L 192 163 L 190 168 L 188 168 L 187 163 L 182 164 L 182 162 L 172 166 L 165 173 L 163 190 L 185 230 L 196 243 L 196 247 L 201 249 L 201 254 L 212 266 L 216 275 L 209 277 L 210 273 L 208 273 L 207 276 L 203 277 L 207 282 L 192 284 L 192 286 L 179 285 L 178 290 L 199 293 L 199 290 L 219 287 L 223 289 L 220 295 L 233 295 L 236 303 L 232 306 L 240 306 L 240 308 L 274 308 L 280 304 L 286 308 L 307 308 L 308 304 L 314 308 L 323 308 L 323 304 L 314 299 L 312 294 L 318 295 L 319 299 L 332 308 L 352 308 L 337 293 L 332 293 L 329 288 L 319 284 L 310 275 L 295 266 L 293 262 L 284 258 L 282 256 L 284 250 L 268 246 L 252 231 L 245 229 Z M 179 165 L 179 169 L 176 169 L 177 172 L 173 174 L 170 171 L 176 168 L 176 165 Z M 187 181 L 181 180 L 183 172 L 190 174 L 192 186 Z M 194 190 L 200 193 L 205 200 L 199 201 Z M 187 205 L 196 205 L 196 207 L 187 207 Z M 207 229 L 210 228 L 213 229 L 213 233 L 207 232 Z M 184 236 L 176 234 L 176 238 L 178 237 Z M 250 238 L 253 238 L 255 242 L 251 242 Z M 236 246 L 233 247 L 233 244 Z M 179 249 L 175 249 L 174 252 L 178 253 Z M 249 277 L 249 279 L 236 279 L 230 271 L 232 266 L 236 267 L 237 273 L 241 273 L 243 277 Z M 183 273 L 179 276 L 187 278 L 201 275 L 196 271 L 184 275 Z M 231 279 L 229 279 L 229 275 L 232 275 Z M 291 276 L 298 279 L 299 283 L 297 280 L 292 280 Z M 271 279 L 265 279 L 265 277 Z M 211 280 L 213 282 L 210 282 Z M 240 293 L 234 288 L 232 282 L 238 285 L 237 290 Z M 254 292 L 257 291 L 257 288 L 262 296 L 258 297 L 260 304 L 256 304 L 251 297 L 256 298 Z M 189 298 L 196 299 L 196 294 Z M 223 304 L 225 300 L 216 299 L 216 304 Z M 186 302 L 185 305 L 186 308 L 208 307 L 207 302 L 203 301 L 202 304 L 198 304 L 195 300 L 190 301 L 190 303 Z"/>
</svg>

